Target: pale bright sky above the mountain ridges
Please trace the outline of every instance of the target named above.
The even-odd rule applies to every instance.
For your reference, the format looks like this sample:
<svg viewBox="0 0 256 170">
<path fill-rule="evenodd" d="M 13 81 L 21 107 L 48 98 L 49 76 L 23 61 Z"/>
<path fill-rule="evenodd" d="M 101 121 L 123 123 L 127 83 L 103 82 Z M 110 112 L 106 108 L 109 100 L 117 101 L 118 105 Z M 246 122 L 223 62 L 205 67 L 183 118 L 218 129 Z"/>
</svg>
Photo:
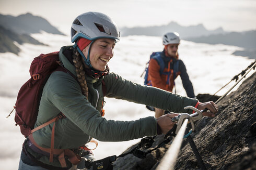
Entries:
<svg viewBox="0 0 256 170">
<path fill-rule="evenodd" d="M 30 12 L 47 19 L 68 33 L 73 20 L 87 11 L 107 14 L 121 27 L 203 24 L 206 29 L 225 31 L 256 29 L 254 0 L 0 0 L 0 14 L 18 16 Z"/>
</svg>

